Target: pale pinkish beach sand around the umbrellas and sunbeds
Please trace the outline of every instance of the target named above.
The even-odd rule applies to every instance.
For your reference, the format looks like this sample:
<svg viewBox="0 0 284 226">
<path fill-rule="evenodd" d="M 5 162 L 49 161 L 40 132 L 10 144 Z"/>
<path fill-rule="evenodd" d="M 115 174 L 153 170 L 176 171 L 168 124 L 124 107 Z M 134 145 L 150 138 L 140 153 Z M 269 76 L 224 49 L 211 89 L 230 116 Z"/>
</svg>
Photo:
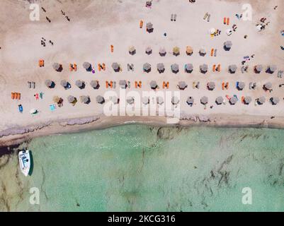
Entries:
<svg viewBox="0 0 284 226">
<path fill-rule="evenodd" d="M 136 90 L 135 81 L 142 81 L 142 90 L 150 90 L 149 82 L 157 81 L 160 86 L 163 81 L 169 81 L 169 90 L 176 91 L 178 81 L 186 81 L 188 88 L 181 91 L 181 112 L 182 115 L 200 116 L 203 115 L 210 120 L 210 124 L 220 126 L 226 125 L 258 125 L 264 122 L 264 126 L 273 125 L 283 127 L 284 101 L 283 90 L 278 88 L 280 83 L 284 83 L 284 78 L 277 78 L 277 73 L 269 75 L 264 71 L 260 74 L 252 72 L 253 66 L 263 64 L 263 68 L 269 64 L 276 64 L 278 69 L 283 68 L 284 52 L 280 45 L 283 44 L 283 37 L 280 30 L 283 30 L 283 1 L 207 1 L 199 0 L 195 4 L 190 4 L 186 0 L 178 1 L 153 1 L 151 9 L 144 6 L 145 1 L 110 1 L 110 0 L 78 0 L 78 1 L 38 1 L 47 13 L 40 12 L 40 21 L 29 20 L 28 3 L 25 1 L 0 2 L 0 131 L 7 131 L 15 128 L 30 128 L 30 125 L 37 128 L 38 125 L 55 124 L 56 121 L 68 121 L 68 119 L 81 119 L 100 116 L 105 124 L 117 124 L 123 121 L 147 121 L 148 118 L 125 117 L 123 119 L 113 119 L 103 117 L 103 107 L 96 103 L 96 96 L 106 93 L 105 81 L 116 81 L 126 79 L 131 82 L 131 88 L 127 92 Z M 242 13 L 242 4 L 250 2 L 253 6 L 253 20 L 237 20 L 236 13 Z M 273 7 L 278 5 L 276 10 Z M 60 10 L 67 13 L 71 18 L 68 22 L 60 13 Z M 13 11 L 13 16 L 11 12 Z M 210 23 L 203 20 L 206 12 L 211 14 Z M 177 21 L 171 22 L 171 13 L 177 14 Z M 45 20 L 48 16 L 52 23 Z M 230 26 L 222 24 L 223 17 L 231 19 Z M 271 23 L 266 30 L 258 32 L 255 24 L 259 23 L 262 17 L 268 18 Z M 140 20 L 144 20 L 144 25 L 151 22 L 154 25 L 154 32 L 151 34 L 145 28 L 139 28 Z M 227 37 L 225 31 L 237 24 L 237 32 Z M 211 38 L 208 34 L 210 28 L 222 30 L 220 36 Z M 167 36 L 164 37 L 164 32 Z M 244 35 L 248 35 L 245 40 Z M 52 47 L 47 43 L 46 47 L 40 45 L 41 37 L 52 40 L 55 45 Z M 231 51 L 225 52 L 222 45 L 225 41 L 232 40 Z M 114 45 L 114 53 L 110 53 L 110 44 Z M 134 45 L 137 53 L 134 56 L 128 54 L 128 47 Z M 194 49 L 193 56 L 186 55 L 186 46 L 191 45 Z M 153 53 L 145 54 L 146 47 L 152 47 Z M 174 57 L 171 52 L 173 47 L 181 48 L 181 55 Z M 166 57 L 159 56 L 160 47 L 165 47 Z M 208 54 L 200 57 L 198 50 L 204 47 Z M 217 49 L 217 57 L 210 57 L 210 49 Z M 249 73 L 242 74 L 241 61 L 244 56 L 255 54 L 254 59 L 249 62 Z M 45 59 L 45 67 L 38 67 L 38 59 Z M 96 73 L 84 71 L 82 64 L 89 61 L 96 67 Z M 111 64 L 117 61 L 123 66 L 123 72 L 115 73 L 111 69 Z M 52 69 L 52 64 L 58 62 L 62 64 L 63 71 L 58 73 Z M 77 72 L 69 72 L 69 63 L 78 65 Z M 98 63 L 106 63 L 106 71 L 98 72 Z M 144 63 L 152 64 L 150 73 L 142 72 Z M 165 73 L 157 72 L 157 64 L 164 63 Z M 127 63 L 134 64 L 135 71 L 127 71 Z M 171 73 L 171 64 L 178 64 L 180 71 L 177 74 Z M 183 72 L 184 64 L 191 63 L 194 66 L 193 73 Z M 205 75 L 198 71 L 200 64 L 208 64 L 210 71 Z M 220 73 L 212 72 L 212 64 L 222 64 Z M 237 64 L 236 74 L 229 74 L 227 67 L 229 64 Z M 55 81 L 54 89 L 45 87 L 45 79 L 50 78 Z M 64 90 L 59 84 L 62 79 L 66 79 L 72 85 L 70 90 Z M 86 82 L 86 88 L 79 90 L 75 81 L 81 79 Z M 99 90 L 93 90 L 89 85 L 91 80 L 98 80 L 101 84 Z M 36 89 L 28 89 L 27 81 L 35 81 Z M 200 81 L 200 89 L 193 89 L 193 81 Z M 216 83 L 214 91 L 206 89 L 209 81 Z M 222 81 L 229 82 L 229 90 L 222 90 Z M 244 81 L 246 87 L 243 91 L 235 88 L 237 81 Z M 273 92 L 266 93 L 262 85 L 270 81 L 273 83 Z M 249 90 L 249 82 L 256 82 L 256 90 Z M 119 93 L 118 88 L 115 90 Z M 11 92 L 21 93 L 21 101 L 11 100 Z M 35 100 L 35 93 L 44 93 L 43 100 Z M 50 112 L 49 105 L 53 104 L 52 97 L 58 95 L 64 99 L 64 107 L 57 107 L 54 112 Z M 89 105 L 78 102 L 75 107 L 67 103 L 67 96 L 74 95 L 79 99 L 80 95 L 89 95 L 91 103 Z M 206 109 L 200 105 L 200 97 L 208 96 L 209 104 Z M 237 105 L 217 106 L 215 98 L 217 96 L 249 95 L 252 102 L 249 106 L 243 105 L 240 101 Z M 188 107 L 186 99 L 188 96 L 195 98 L 195 105 Z M 265 96 L 266 103 L 262 106 L 254 106 L 254 100 Z M 279 97 L 280 104 L 272 106 L 268 100 L 271 97 Z M 18 104 L 23 105 L 23 114 L 18 113 Z M 214 107 L 210 109 L 210 105 Z M 30 115 L 30 109 L 38 109 L 39 114 Z M 271 119 L 271 116 L 276 117 Z M 156 119 L 157 118 L 157 119 Z M 184 117 L 183 117 L 184 118 Z M 188 116 L 188 118 L 191 118 Z M 202 117 L 201 117 L 202 118 Z M 164 119 L 163 119 L 164 120 Z M 152 123 L 161 122 L 160 117 L 151 118 Z M 98 120 L 100 121 L 100 120 Z M 93 124 L 99 124 L 95 121 Z M 193 117 L 193 121 L 194 117 Z M 206 120 L 201 120 L 206 121 Z M 165 120 L 164 120 L 165 124 Z M 188 122 L 181 121 L 181 124 Z M 59 126 L 60 127 L 60 126 Z M 71 129 L 68 127 L 68 131 Z M 79 126 L 84 128 L 84 126 Z M 79 129 L 76 128 L 76 129 Z M 42 129 L 46 133 L 55 132 L 52 126 Z M 65 129 L 57 128 L 56 131 Z M 33 134 L 33 135 L 31 135 Z M 36 134 L 43 135 L 43 132 L 35 131 L 28 136 Z M 4 136 L 0 141 L 8 141 L 21 136 Z"/>
</svg>

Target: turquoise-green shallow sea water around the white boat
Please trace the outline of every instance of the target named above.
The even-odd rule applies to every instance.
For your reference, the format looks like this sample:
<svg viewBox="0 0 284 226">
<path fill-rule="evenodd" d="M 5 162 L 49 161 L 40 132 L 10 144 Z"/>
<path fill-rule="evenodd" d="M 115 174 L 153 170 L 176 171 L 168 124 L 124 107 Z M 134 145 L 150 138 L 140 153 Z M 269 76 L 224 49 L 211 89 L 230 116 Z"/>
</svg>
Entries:
<svg viewBox="0 0 284 226">
<path fill-rule="evenodd" d="M 1 157 L 0 210 L 283 211 L 283 144 L 278 129 L 141 125 L 35 138 L 31 177 Z"/>
</svg>

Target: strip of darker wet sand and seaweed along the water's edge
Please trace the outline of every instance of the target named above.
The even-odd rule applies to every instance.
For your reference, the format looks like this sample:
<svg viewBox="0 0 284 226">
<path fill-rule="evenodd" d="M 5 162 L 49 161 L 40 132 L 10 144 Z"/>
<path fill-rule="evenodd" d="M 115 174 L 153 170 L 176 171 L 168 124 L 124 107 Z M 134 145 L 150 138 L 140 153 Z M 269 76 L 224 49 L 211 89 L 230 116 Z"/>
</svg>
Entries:
<svg viewBox="0 0 284 226">
<path fill-rule="evenodd" d="M 45 124 L 33 124 L 30 126 L 13 127 L 0 131 L 0 156 L 8 147 L 16 147 L 30 141 L 33 138 L 51 136 L 55 134 L 79 133 L 92 130 L 108 129 L 114 126 L 127 124 L 141 124 L 148 126 L 210 126 L 216 128 L 269 128 L 284 129 L 284 117 L 263 117 L 239 115 L 183 115 L 177 124 L 167 124 L 167 117 L 85 117 L 77 119 L 61 119 L 49 121 Z M 4 151 L 5 152 L 5 151 Z M 7 153 L 7 151 L 6 151 Z"/>
</svg>

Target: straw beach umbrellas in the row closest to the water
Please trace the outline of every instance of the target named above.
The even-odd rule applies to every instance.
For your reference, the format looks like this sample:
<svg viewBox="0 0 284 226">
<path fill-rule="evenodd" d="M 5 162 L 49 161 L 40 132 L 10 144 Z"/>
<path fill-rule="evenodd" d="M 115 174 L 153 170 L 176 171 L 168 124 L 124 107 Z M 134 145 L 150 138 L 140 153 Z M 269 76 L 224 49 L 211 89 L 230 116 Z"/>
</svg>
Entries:
<svg viewBox="0 0 284 226">
<path fill-rule="evenodd" d="M 67 100 L 72 105 L 75 105 L 76 102 L 77 102 L 76 97 L 74 97 L 72 95 L 69 95 L 67 97 Z M 81 96 L 80 100 L 84 104 L 89 104 L 91 102 L 91 99 L 90 99 L 89 96 Z M 164 104 L 164 97 L 158 96 L 158 97 L 156 97 L 156 100 L 157 100 L 157 104 L 159 104 L 159 105 Z M 113 104 L 118 104 L 120 100 L 118 99 L 118 97 L 113 96 L 113 97 L 110 97 L 110 101 L 112 101 Z M 229 104 L 230 105 L 236 105 L 238 101 L 239 101 L 239 99 L 237 98 L 237 96 L 232 96 L 232 97 L 229 98 Z M 252 101 L 252 98 L 249 97 L 249 96 L 246 96 L 246 97 L 244 97 L 243 103 L 244 103 L 244 105 L 249 105 L 251 103 L 251 101 Z M 103 105 L 106 102 L 106 100 L 104 99 L 103 96 L 98 95 L 96 97 L 96 102 L 98 104 Z M 133 105 L 135 103 L 135 97 L 127 97 L 126 98 L 126 102 L 129 105 Z M 144 105 L 149 104 L 149 102 L 150 102 L 150 98 L 149 97 L 146 97 L 146 96 L 142 97 L 142 103 Z M 178 105 L 179 102 L 180 102 L 180 100 L 179 100 L 178 97 L 176 97 L 176 96 L 171 97 L 171 103 L 173 105 Z M 256 103 L 258 105 L 263 105 L 265 102 L 266 102 L 266 97 L 262 96 L 262 97 L 259 97 L 259 98 L 256 99 Z M 271 102 L 272 105 L 277 105 L 280 102 L 280 100 L 279 100 L 278 97 L 271 97 L 270 102 Z M 186 103 L 188 105 L 192 106 L 194 104 L 194 98 L 193 97 L 188 97 L 187 100 L 186 100 Z M 200 98 L 200 103 L 202 105 L 208 105 L 208 97 L 207 96 L 201 97 Z M 216 103 L 216 105 L 223 105 L 223 104 L 225 104 L 225 99 L 222 96 L 219 96 L 219 97 L 217 97 L 215 99 L 215 103 Z"/>
</svg>

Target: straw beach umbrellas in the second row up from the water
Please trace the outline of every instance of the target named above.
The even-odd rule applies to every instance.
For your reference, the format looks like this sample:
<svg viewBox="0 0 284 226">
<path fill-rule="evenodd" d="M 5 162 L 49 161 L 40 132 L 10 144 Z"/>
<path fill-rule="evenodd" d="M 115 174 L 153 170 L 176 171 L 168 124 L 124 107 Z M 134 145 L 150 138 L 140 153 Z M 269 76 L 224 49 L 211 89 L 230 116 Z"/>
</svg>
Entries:
<svg viewBox="0 0 284 226">
<path fill-rule="evenodd" d="M 64 89 L 66 89 L 66 90 L 69 89 L 69 88 L 71 88 L 70 83 L 69 83 L 68 81 L 66 81 L 66 80 L 62 80 L 62 81 L 60 82 L 60 84 L 61 84 L 62 87 L 63 87 Z M 128 83 L 127 83 L 126 80 L 120 80 L 118 84 L 120 85 L 120 88 L 125 89 L 125 88 L 127 88 L 127 84 L 128 84 Z M 47 79 L 47 80 L 45 81 L 45 85 L 47 86 L 47 88 L 54 88 L 54 87 L 55 87 L 55 82 L 54 82 L 54 81 L 51 81 L 50 79 Z M 77 81 L 75 82 L 75 85 L 76 85 L 78 88 L 80 88 L 80 89 L 84 89 L 85 86 L 86 86 L 86 83 L 85 83 L 84 81 L 77 80 Z M 90 82 L 90 85 L 91 85 L 91 87 L 92 87 L 93 89 L 98 89 L 98 88 L 100 87 L 99 82 L 96 81 L 96 80 L 91 81 L 91 82 Z M 151 82 L 149 83 L 149 85 L 150 85 L 150 88 L 152 88 L 152 90 L 156 90 L 157 88 L 159 88 L 157 81 L 151 81 Z M 245 84 L 244 82 L 242 82 L 242 81 L 241 81 L 241 82 L 237 82 L 236 88 L 237 88 L 237 90 L 244 90 L 245 85 L 246 85 L 246 84 Z M 214 90 L 215 87 L 216 87 L 215 82 L 212 82 L 212 81 L 211 81 L 211 82 L 207 83 L 207 88 L 208 88 L 208 90 Z M 179 82 L 178 82 L 178 88 L 179 88 L 180 90 L 185 90 L 186 88 L 188 88 L 188 85 L 186 84 L 185 81 L 179 81 Z M 265 83 L 265 84 L 263 85 L 263 90 L 272 90 L 272 83 L 271 83 L 271 82 Z"/>
</svg>

